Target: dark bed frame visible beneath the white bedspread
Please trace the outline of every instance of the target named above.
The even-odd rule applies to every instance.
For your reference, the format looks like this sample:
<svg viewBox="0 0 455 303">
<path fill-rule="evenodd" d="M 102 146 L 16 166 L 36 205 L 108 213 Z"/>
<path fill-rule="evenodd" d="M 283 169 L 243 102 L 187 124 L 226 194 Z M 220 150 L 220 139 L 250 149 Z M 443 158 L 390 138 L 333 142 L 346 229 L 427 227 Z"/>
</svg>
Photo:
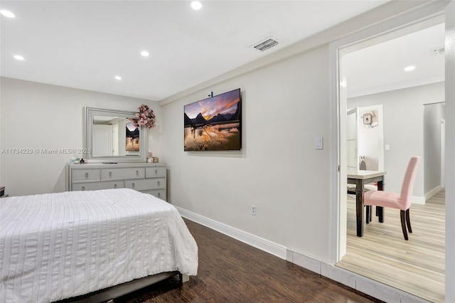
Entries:
<svg viewBox="0 0 455 303">
<path fill-rule="evenodd" d="M 106 289 L 100 289 L 90 294 L 82 294 L 82 296 L 64 299 L 56 303 L 99 303 L 99 302 L 113 302 L 114 299 L 122 297 L 125 294 L 135 292 L 144 287 L 154 285 L 157 282 L 161 282 L 170 277 L 178 275 L 179 285 L 183 285 L 183 282 L 189 280 L 188 275 L 182 275 L 180 272 L 161 272 L 156 275 L 143 277 L 141 279 L 132 280 L 119 285 L 108 287 Z"/>
</svg>

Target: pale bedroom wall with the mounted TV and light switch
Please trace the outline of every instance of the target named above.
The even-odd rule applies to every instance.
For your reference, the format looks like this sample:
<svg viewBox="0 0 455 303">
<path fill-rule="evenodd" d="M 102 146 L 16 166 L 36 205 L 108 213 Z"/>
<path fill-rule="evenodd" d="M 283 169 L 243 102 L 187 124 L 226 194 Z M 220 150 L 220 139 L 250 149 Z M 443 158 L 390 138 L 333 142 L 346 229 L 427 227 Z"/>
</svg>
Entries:
<svg viewBox="0 0 455 303">
<path fill-rule="evenodd" d="M 168 201 L 328 261 L 328 76 L 323 46 L 164 105 Z M 183 151 L 183 105 L 237 87 L 242 150 Z M 314 149 L 316 135 L 323 150 Z"/>
</svg>

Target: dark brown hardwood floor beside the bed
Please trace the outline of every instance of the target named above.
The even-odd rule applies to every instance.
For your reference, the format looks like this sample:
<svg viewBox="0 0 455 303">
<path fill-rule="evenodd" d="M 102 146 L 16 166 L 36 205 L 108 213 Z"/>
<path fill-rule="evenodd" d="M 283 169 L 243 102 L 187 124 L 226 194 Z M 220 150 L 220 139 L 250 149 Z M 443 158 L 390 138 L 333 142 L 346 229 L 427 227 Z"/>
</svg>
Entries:
<svg viewBox="0 0 455 303">
<path fill-rule="evenodd" d="M 151 285 L 118 302 L 380 302 L 279 257 L 185 220 L 199 248 L 196 277 Z"/>
</svg>

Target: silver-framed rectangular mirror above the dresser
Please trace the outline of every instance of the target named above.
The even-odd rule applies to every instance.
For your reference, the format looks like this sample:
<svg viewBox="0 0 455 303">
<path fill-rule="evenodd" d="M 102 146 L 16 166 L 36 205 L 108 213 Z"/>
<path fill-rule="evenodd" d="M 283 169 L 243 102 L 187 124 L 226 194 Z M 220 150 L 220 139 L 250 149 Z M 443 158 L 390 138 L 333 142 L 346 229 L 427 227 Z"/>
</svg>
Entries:
<svg viewBox="0 0 455 303">
<path fill-rule="evenodd" d="M 85 156 L 88 162 L 146 161 L 146 127 L 135 127 L 136 112 L 85 107 Z"/>
</svg>

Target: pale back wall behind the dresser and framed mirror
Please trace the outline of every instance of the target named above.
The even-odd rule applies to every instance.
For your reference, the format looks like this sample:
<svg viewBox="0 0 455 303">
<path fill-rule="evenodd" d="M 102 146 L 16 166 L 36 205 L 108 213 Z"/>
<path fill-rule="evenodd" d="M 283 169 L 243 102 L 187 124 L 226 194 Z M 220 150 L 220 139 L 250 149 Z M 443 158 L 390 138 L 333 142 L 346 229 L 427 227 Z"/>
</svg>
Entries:
<svg viewBox="0 0 455 303">
<path fill-rule="evenodd" d="M 157 110 L 158 126 L 148 145 L 160 153 L 161 115 L 156 102 L 0 78 L 1 148 L 31 149 L 33 154 L 0 154 L 1 186 L 10 196 L 65 191 L 65 165 L 73 154 L 36 154 L 35 149 L 82 149 L 85 106 L 137 110 L 146 103 Z"/>
</svg>

